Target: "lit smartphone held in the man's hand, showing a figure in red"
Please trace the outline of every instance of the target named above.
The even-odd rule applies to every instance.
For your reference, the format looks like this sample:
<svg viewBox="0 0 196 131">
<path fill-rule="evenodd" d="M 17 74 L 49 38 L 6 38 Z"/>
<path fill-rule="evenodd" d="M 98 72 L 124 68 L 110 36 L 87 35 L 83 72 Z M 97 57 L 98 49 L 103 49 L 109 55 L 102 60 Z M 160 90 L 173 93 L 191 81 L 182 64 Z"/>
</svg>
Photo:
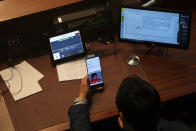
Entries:
<svg viewBox="0 0 196 131">
<path fill-rule="evenodd" d="M 100 57 L 90 57 L 86 58 L 86 66 L 87 72 L 89 77 L 89 86 L 90 88 L 99 88 L 103 87 L 103 76 L 101 72 L 101 64 L 100 64 Z"/>
</svg>

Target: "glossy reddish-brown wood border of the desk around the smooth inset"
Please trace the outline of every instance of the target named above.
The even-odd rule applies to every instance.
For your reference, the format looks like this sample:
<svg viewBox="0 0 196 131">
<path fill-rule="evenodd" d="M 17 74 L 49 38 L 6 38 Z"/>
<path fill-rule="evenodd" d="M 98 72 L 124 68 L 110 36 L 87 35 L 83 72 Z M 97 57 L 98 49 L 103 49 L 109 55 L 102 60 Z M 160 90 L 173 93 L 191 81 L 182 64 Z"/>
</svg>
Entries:
<svg viewBox="0 0 196 131">
<path fill-rule="evenodd" d="M 135 46 L 135 53 L 140 56 L 142 67 L 150 82 L 159 91 L 161 101 L 196 92 L 196 10 L 192 10 L 192 13 L 189 50 L 169 49 L 168 56 L 157 56 L 156 51 L 158 50 L 146 55 L 147 49 L 145 47 Z M 116 115 L 118 115 L 117 108 L 111 108 L 91 114 L 90 118 L 92 122 L 96 122 Z M 69 129 L 69 122 L 41 131 L 61 131 L 64 129 Z"/>
</svg>

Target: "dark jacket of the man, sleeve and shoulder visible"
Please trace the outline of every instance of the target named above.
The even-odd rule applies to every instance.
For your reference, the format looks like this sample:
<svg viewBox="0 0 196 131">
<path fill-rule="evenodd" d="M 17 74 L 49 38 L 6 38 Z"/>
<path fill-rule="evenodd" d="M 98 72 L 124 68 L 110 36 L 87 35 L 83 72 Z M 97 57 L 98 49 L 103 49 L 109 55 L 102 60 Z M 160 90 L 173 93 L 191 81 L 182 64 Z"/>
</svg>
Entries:
<svg viewBox="0 0 196 131">
<path fill-rule="evenodd" d="M 71 131 L 92 131 L 87 104 L 73 105 L 69 109 Z M 182 122 L 161 120 L 160 131 L 190 131 Z"/>
</svg>

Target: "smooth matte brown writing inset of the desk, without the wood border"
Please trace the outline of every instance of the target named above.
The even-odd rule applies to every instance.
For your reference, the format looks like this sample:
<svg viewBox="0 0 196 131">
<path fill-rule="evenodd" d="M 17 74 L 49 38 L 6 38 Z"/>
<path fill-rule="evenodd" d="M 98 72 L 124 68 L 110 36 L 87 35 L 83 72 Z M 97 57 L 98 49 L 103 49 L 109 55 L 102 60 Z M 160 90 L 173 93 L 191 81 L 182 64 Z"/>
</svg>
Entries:
<svg viewBox="0 0 196 131">
<path fill-rule="evenodd" d="M 137 74 L 148 81 L 141 65 L 129 69 L 121 57 L 121 54 L 133 52 L 132 45 L 124 44 L 127 49 L 124 50 L 120 44 L 117 43 L 122 51 L 115 55 L 110 45 L 91 43 L 91 52 L 103 52 L 101 65 L 105 84 L 105 91 L 93 96 L 91 114 L 115 107 L 116 92 L 126 76 Z M 80 80 L 59 82 L 56 68 L 50 64 L 49 55 L 26 60 L 44 75 L 39 81 L 43 91 L 19 101 L 14 101 L 10 93 L 4 95 L 16 130 L 34 131 L 69 121 L 68 109 L 79 92 Z"/>
</svg>

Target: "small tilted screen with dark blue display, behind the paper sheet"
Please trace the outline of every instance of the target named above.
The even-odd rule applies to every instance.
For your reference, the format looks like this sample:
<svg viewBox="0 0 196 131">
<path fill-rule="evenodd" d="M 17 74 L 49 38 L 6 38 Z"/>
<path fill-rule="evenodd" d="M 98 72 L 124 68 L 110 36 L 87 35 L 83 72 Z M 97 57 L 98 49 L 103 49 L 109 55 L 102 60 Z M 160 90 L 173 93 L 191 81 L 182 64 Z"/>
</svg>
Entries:
<svg viewBox="0 0 196 131">
<path fill-rule="evenodd" d="M 54 61 L 84 53 L 79 30 L 51 37 L 49 41 Z"/>
</svg>

